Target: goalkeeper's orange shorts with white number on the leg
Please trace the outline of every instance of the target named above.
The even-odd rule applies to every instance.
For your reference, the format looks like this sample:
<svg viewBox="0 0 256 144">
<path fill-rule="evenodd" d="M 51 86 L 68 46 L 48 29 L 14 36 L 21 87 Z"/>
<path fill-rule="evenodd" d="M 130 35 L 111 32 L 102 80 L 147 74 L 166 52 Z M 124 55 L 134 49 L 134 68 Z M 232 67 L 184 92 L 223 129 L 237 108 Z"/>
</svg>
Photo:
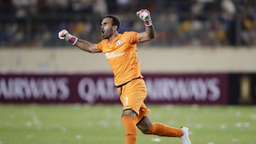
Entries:
<svg viewBox="0 0 256 144">
<path fill-rule="evenodd" d="M 146 84 L 144 79 L 134 79 L 117 90 L 123 110 L 132 109 L 137 113 L 135 123 L 138 123 L 144 116 L 149 114 L 150 110 L 144 104 L 144 100 L 146 99 Z"/>
</svg>

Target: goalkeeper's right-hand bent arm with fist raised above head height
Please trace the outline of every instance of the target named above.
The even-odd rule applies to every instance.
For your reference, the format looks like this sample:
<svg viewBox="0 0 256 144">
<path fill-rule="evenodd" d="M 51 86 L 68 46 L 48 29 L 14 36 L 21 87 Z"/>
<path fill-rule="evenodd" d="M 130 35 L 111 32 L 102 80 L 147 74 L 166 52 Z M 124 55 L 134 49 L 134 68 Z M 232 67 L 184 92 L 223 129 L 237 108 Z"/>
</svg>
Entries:
<svg viewBox="0 0 256 144">
<path fill-rule="evenodd" d="M 137 12 L 137 16 L 142 21 L 144 21 L 144 25 L 146 26 L 146 30 L 142 33 L 139 33 L 139 42 L 143 43 L 152 40 L 155 37 L 155 31 L 149 11 L 147 11 L 146 9 L 142 9 Z"/>
</svg>

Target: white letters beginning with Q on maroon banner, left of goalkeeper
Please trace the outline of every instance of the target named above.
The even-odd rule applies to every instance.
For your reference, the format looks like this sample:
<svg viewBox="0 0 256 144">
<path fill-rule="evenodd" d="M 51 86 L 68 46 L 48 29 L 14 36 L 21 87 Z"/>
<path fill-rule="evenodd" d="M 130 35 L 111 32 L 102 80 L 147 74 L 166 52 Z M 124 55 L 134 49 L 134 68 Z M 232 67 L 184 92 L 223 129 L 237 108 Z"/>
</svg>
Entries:
<svg viewBox="0 0 256 144">
<path fill-rule="evenodd" d="M 84 77 L 78 84 L 78 94 L 81 99 L 91 104 L 95 103 L 98 99 L 105 101 L 118 99 L 113 78 L 99 78 L 94 81 L 90 77 Z"/>
</svg>

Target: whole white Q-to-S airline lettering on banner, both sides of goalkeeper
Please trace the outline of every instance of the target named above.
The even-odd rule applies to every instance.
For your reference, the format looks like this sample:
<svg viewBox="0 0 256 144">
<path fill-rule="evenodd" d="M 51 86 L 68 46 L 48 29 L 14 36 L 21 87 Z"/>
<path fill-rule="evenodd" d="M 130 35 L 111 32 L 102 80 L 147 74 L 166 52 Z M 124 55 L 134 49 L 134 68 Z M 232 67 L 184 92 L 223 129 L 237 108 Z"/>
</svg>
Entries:
<svg viewBox="0 0 256 144">
<path fill-rule="evenodd" d="M 191 79 L 145 79 L 148 99 L 151 101 L 217 101 L 220 98 L 220 80 L 218 78 Z M 113 78 L 93 80 L 84 77 L 78 84 L 78 94 L 88 103 L 113 101 L 118 98 Z"/>
</svg>

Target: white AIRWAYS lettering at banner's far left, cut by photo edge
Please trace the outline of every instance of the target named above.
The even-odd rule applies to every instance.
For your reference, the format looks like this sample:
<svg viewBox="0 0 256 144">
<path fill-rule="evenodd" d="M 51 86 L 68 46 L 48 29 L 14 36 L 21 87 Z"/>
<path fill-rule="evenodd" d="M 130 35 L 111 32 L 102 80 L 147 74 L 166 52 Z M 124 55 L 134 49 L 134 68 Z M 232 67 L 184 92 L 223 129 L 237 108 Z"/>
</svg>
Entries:
<svg viewBox="0 0 256 144">
<path fill-rule="evenodd" d="M 66 78 L 0 79 L 0 97 L 4 99 L 68 99 L 70 90 Z"/>
</svg>

